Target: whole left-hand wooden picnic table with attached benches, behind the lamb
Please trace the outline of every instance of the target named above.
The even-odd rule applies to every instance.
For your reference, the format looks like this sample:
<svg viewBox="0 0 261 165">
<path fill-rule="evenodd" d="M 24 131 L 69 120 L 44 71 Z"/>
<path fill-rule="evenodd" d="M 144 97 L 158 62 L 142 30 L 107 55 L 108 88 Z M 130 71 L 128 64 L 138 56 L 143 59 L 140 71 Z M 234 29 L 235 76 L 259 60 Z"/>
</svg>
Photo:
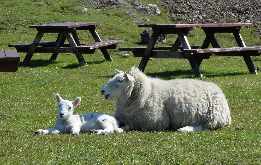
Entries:
<svg viewBox="0 0 261 165">
<path fill-rule="evenodd" d="M 27 52 L 23 65 L 28 65 L 34 53 L 52 53 L 51 60 L 55 60 L 59 53 L 74 53 L 81 65 L 87 65 L 82 53 L 94 53 L 100 49 L 106 60 L 113 61 L 107 49 L 115 49 L 123 40 L 102 41 L 96 32 L 97 25 L 102 22 L 64 22 L 54 24 L 31 25 L 38 31 L 32 43 L 13 44 L 17 52 Z M 78 30 L 90 31 L 94 43 L 82 44 L 77 35 Z M 56 41 L 40 42 L 44 33 L 58 33 Z M 65 41 L 69 44 L 64 44 Z M 38 47 L 41 46 L 41 47 Z"/>
</svg>

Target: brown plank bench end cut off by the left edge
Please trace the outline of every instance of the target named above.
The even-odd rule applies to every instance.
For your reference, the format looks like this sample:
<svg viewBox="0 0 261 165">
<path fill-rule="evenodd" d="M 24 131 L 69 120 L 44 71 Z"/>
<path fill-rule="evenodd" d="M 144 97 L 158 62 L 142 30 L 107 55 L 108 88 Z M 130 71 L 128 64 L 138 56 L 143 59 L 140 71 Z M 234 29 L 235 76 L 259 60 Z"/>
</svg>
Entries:
<svg viewBox="0 0 261 165">
<path fill-rule="evenodd" d="M 0 72 L 16 72 L 19 61 L 16 50 L 0 50 Z"/>
</svg>

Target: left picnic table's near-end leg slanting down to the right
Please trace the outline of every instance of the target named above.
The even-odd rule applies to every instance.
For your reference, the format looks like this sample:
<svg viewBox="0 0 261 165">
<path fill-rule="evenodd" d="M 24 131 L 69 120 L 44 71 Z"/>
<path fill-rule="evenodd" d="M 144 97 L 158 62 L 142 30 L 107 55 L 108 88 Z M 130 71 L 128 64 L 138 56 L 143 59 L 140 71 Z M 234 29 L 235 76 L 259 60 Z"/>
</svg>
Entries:
<svg viewBox="0 0 261 165">
<path fill-rule="evenodd" d="M 71 35 L 71 33 L 68 31 L 68 30 L 65 30 L 64 31 L 64 35 L 66 37 L 66 39 L 68 40 L 76 58 L 78 59 L 78 61 L 80 62 L 80 65 L 83 66 L 83 65 L 86 65 L 87 66 L 87 63 L 85 62 L 82 54 L 79 52 L 79 50 L 76 48 L 77 44 L 75 43 L 74 39 L 73 39 L 73 36 Z"/>
</svg>

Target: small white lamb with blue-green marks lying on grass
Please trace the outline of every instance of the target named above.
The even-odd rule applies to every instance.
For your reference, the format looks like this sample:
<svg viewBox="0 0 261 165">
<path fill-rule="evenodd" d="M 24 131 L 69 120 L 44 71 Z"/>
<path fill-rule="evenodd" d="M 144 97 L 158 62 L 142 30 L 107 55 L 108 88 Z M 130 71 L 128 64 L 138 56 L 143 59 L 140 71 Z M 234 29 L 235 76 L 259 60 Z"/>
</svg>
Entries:
<svg viewBox="0 0 261 165">
<path fill-rule="evenodd" d="M 77 97 L 74 101 L 69 101 L 63 100 L 59 94 L 56 94 L 55 98 L 59 104 L 59 111 L 54 128 L 38 129 L 34 132 L 36 135 L 58 133 L 79 135 L 80 132 L 106 135 L 114 132 L 114 129 L 119 126 L 119 123 L 110 114 L 87 113 L 84 115 L 73 115 L 73 110 L 81 102 L 81 97 Z"/>
</svg>

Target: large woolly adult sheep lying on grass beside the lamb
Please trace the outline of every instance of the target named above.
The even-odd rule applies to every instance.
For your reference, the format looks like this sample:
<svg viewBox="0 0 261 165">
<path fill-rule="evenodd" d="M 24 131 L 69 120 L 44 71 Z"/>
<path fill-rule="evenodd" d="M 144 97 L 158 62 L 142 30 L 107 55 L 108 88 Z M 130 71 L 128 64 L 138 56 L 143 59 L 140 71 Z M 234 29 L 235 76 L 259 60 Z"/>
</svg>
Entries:
<svg viewBox="0 0 261 165">
<path fill-rule="evenodd" d="M 102 88 L 106 100 L 116 98 L 115 131 L 196 131 L 231 124 L 222 90 L 212 82 L 195 79 L 164 81 L 132 67 L 129 74 L 117 71 Z"/>
</svg>

